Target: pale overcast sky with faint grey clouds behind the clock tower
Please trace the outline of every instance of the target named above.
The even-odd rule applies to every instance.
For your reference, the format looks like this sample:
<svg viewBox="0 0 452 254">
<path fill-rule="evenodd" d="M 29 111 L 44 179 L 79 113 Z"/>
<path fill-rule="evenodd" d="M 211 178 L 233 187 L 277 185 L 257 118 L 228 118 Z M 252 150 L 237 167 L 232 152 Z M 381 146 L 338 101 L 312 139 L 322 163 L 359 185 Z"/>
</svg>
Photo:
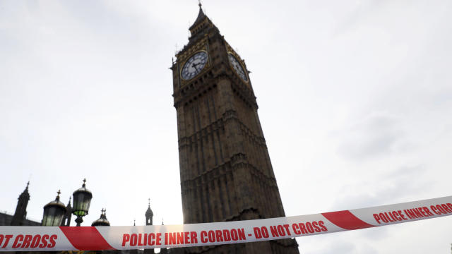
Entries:
<svg viewBox="0 0 452 254">
<path fill-rule="evenodd" d="M 112 225 L 182 223 L 174 53 L 196 0 L 0 0 L 0 210 L 83 178 Z M 452 1 L 203 1 L 251 71 L 287 216 L 451 195 Z M 75 224 L 72 222 L 72 224 Z M 450 253 L 452 217 L 297 238 Z"/>
</svg>

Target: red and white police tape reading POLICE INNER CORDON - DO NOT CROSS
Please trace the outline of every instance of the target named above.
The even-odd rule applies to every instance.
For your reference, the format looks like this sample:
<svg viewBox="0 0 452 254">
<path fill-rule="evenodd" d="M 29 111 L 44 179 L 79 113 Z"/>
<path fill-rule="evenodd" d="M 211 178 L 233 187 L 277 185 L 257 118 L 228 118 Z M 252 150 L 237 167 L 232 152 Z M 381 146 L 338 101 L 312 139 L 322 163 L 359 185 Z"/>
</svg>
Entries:
<svg viewBox="0 0 452 254">
<path fill-rule="evenodd" d="M 292 217 L 156 226 L 0 226 L 0 251 L 127 250 L 268 241 L 452 214 L 452 196 Z"/>
</svg>

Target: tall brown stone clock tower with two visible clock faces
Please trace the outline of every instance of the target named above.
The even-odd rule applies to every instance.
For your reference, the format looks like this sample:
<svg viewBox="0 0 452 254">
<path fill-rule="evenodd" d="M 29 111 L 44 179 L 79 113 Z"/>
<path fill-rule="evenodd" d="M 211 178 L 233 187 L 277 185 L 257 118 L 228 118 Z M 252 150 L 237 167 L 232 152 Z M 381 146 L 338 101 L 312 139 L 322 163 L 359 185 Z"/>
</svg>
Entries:
<svg viewBox="0 0 452 254">
<path fill-rule="evenodd" d="M 284 217 L 243 59 L 199 13 L 172 63 L 184 223 Z M 299 253 L 295 239 L 189 253 Z"/>
</svg>

